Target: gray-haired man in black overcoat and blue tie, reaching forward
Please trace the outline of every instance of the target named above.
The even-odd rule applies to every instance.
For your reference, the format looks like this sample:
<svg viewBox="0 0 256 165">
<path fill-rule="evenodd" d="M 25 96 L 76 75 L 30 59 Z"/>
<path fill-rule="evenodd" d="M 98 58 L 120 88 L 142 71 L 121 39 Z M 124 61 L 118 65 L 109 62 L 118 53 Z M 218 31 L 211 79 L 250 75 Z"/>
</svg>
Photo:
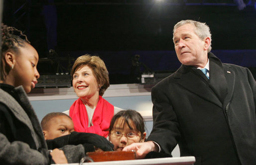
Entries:
<svg viewBox="0 0 256 165">
<path fill-rule="evenodd" d="M 182 20 L 173 42 L 180 68 L 152 88 L 153 129 L 136 150 L 194 156 L 195 165 L 256 164 L 256 81 L 248 68 L 222 63 L 205 23 Z"/>
</svg>

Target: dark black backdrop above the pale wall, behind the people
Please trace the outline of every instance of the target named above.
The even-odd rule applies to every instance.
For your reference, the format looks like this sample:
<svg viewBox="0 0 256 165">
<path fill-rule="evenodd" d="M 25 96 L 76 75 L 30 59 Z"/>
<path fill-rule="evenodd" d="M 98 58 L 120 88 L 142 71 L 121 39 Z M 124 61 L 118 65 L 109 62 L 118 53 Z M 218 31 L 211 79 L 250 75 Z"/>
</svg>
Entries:
<svg viewBox="0 0 256 165">
<path fill-rule="evenodd" d="M 172 29 L 182 19 L 206 22 L 212 52 L 256 75 L 256 10 L 249 0 L 243 10 L 233 0 L 106 1 L 5 0 L 3 23 L 28 35 L 41 75 L 69 73 L 75 58 L 87 53 L 103 58 L 111 84 L 171 73 L 180 66 Z"/>
</svg>

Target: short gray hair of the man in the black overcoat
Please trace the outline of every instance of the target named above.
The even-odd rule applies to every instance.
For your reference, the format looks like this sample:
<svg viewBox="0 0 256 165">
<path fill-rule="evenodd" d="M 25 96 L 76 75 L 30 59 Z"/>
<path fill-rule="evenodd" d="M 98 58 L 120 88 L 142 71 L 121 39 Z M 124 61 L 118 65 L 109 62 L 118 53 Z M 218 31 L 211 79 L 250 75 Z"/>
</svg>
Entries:
<svg viewBox="0 0 256 165">
<path fill-rule="evenodd" d="M 185 24 L 194 25 L 195 26 L 194 31 L 201 40 L 204 40 L 206 37 L 210 37 L 210 39 L 212 41 L 212 34 L 211 34 L 209 26 L 206 23 L 202 23 L 202 22 L 198 22 L 198 21 L 194 21 L 194 20 L 189 20 L 189 19 L 179 21 L 178 23 L 176 23 L 176 25 L 174 25 L 173 36 L 174 36 L 175 30 L 177 28 L 179 28 L 180 26 L 185 25 Z M 212 42 L 210 43 L 210 47 L 207 50 L 208 53 L 211 52 L 211 50 L 212 50 L 211 45 L 212 45 Z"/>
</svg>

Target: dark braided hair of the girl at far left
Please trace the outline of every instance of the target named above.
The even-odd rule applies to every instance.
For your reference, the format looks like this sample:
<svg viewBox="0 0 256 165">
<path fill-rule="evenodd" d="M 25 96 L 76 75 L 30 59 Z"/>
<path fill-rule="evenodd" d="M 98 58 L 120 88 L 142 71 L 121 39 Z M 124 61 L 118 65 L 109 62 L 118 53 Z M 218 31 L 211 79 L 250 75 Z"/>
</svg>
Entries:
<svg viewBox="0 0 256 165">
<path fill-rule="evenodd" d="M 14 27 L 8 27 L 1 23 L 1 64 L 0 64 L 0 80 L 4 80 L 9 73 L 10 68 L 5 64 L 4 54 L 10 50 L 18 54 L 18 47 L 24 47 L 25 43 L 30 44 L 27 36 Z"/>
</svg>

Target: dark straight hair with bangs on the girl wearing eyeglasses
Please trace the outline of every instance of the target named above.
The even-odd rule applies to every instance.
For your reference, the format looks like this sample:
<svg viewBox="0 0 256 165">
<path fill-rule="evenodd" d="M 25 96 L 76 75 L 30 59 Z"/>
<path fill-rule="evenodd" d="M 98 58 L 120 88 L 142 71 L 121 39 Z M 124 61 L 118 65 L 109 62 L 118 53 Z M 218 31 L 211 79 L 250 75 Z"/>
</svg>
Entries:
<svg viewBox="0 0 256 165">
<path fill-rule="evenodd" d="M 134 129 L 131 127 L 131 121 L 135 125 L 135 131 L 140 132 L 141 137 L 140 140 L 143 139 L 143 133 L 145 132 L 145 122 L 141 114 L 135 110 L 121 110 L 117 114 L 115 114 L 110 122 L 109 134 L 114 129 L 115 122 L 120 118 L 123 117 L 123 128 L 125 124 L 128 125 L 130 129 Z"/>
</svg>

